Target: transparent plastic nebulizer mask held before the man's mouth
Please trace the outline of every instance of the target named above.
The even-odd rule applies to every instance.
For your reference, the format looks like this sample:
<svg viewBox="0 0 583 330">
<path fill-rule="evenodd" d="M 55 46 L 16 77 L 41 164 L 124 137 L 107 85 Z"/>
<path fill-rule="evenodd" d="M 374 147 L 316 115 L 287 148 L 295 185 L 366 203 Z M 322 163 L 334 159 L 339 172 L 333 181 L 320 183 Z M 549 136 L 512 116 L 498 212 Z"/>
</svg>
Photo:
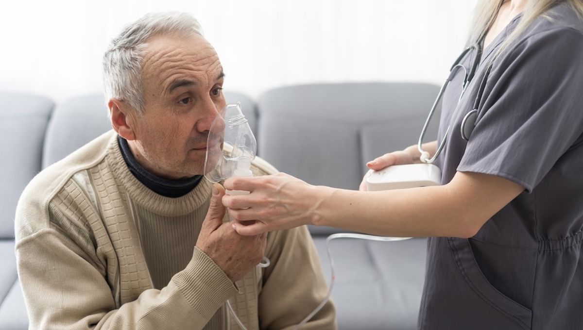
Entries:
<svg viewBox="0 0 583 330">
<path fill-rule="evenodd" d="M 205 178 L 210 182 L 233 176 L 251 176 L 257 141 L 241 104 L 227 104 L 210 125 L 206 143 Z"/>
</svg>

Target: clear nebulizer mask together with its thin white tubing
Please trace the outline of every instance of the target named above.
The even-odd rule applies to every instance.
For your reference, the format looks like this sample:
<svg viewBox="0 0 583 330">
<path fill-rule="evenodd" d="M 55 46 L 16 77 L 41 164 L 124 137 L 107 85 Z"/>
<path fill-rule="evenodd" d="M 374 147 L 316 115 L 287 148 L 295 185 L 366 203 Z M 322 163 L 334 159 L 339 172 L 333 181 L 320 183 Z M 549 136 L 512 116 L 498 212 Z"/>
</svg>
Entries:
<svg viewBox="0 0 583 330">
<path fill-rule="evenodd" d="M 206 147 L 205 159 L 205 178 L 213 183 L 221 180 L 232 178 L 233 176 L 252 176 L 251 161 L 255 158 L 257 152 L 257 141 L 251 131 L 247 119 L 241 111 L 241 104 L 229 104 L 217 116 L 215 121 L 210 125 L 209 137 Z M 227 191 L 228 194 L 245 194 L 248 191 Z M 331 281 L 325 298 L 318 304 L 314 310 L 308 314 L 294 329 L 300 329 L 304 324 L 311 320 L 325 306 L 326 302 L 332 295 L 336 276 L 334 273 L 334 262 L 330 251 L 330 242 L 334 239 L 350 238 L 364 239 L 380 242 L 393 242 L 406 240 L 410 237 L 381 237 L 373 235 L 364 235 L 359 233 L 336 233 L 326 238 L 326 251 L 330 261 Z M 270 261 L 267 257 L 259 262 L 258 267 L 269 267 Z M 239 327 L 247 330 L 233 306 L 227 300 L 227 309 Z"/>
</svg>

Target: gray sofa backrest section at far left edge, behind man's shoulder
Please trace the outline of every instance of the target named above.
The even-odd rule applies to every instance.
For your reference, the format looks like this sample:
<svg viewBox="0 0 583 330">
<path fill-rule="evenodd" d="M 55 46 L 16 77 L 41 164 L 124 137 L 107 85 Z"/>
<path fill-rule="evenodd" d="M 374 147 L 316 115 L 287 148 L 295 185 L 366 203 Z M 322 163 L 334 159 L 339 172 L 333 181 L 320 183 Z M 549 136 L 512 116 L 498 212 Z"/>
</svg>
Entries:
<svg viewBox="0 0 583 330">
<path fill-rule="evenodd" d="M 51 100 L 38 95 L 0 93 L 0 239 L 14 237 L 16 203 L 41 169 L 53 107 Z"/>
</svg>

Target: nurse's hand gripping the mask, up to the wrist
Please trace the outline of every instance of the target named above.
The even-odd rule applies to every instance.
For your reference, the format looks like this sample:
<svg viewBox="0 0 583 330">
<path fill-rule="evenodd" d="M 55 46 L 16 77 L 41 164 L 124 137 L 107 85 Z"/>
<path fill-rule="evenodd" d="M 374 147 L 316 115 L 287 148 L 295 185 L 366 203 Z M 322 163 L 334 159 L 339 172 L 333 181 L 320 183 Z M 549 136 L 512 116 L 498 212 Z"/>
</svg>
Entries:
<svg viewBox="0 0 583 330">
<path fill-rule="evenodd" d="M 225 195 L 234 228 L 241 235 L 258 235 L 317 222 L 318 206 L 332 189 L 312 186 L 285 173 L 225 180 L 229 190 L 250 191 L 247 195 Z"/>
</svg>

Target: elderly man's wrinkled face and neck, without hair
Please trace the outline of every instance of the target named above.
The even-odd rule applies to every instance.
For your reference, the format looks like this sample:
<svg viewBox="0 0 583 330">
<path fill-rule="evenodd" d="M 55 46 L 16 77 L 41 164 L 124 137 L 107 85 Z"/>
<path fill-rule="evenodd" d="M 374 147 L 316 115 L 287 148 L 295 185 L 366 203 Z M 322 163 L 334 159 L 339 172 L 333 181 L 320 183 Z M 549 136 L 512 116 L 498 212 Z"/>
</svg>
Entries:
<svg viewBox="0 0 583 330">
<path fill-rule="evenodd" d="M 154 37 L 145 51 L 144 109 L 132 116 L 132 152 L 162 178 L 203 174 L 210 125 L 226 105 L 219 57 L 201 36 Z"/>
</svg>

